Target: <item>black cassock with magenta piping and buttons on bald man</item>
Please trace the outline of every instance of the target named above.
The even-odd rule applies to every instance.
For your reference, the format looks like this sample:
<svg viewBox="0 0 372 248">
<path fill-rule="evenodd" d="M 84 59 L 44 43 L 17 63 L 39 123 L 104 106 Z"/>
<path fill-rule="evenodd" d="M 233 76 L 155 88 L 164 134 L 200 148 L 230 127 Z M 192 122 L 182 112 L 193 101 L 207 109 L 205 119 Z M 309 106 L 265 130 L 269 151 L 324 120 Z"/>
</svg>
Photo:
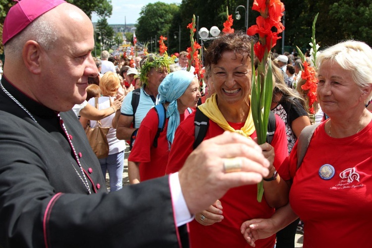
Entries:
<svg viewBox="0 0 372 248">
<path fill-rule="evenodd" d="M 107 193 L 75 114 L 1 83 L 37 123 L 0 89 L 0 247 L 187 247 L 168 177 Z"/>
</svg>

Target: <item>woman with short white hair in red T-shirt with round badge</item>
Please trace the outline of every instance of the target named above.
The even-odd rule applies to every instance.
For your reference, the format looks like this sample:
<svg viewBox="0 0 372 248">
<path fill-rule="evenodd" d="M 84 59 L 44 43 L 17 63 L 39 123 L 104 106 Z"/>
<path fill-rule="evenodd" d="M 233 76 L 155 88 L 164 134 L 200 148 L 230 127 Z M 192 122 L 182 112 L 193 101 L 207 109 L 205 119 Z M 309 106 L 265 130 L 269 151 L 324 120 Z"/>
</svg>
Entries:
<svg viewBox="0 0 372 248">
<path fill-rule="evenodd" d="M 242 225 L 252 246 L 298 215 L 304 221 L 304 248 L 371 247 L 372 113 L 365 107 L 372 94 L 371 58 L 372 49 L 357 41 L 339 43 L 317 57 L 317 100 L 330 118 L 314 129 L 299 168 L 303 136 L 293 148 L 290 204 L 268 220 Z"/>
</svg>

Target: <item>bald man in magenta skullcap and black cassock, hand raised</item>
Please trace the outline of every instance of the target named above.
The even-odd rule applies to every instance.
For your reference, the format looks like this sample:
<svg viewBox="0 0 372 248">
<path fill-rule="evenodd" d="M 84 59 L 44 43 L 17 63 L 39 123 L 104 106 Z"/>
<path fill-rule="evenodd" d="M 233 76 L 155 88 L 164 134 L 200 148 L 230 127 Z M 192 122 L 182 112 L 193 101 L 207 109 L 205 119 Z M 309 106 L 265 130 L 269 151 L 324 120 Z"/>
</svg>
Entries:
<svg viewBox="0 0 372 248">
<path fill-rule="evenodd" d="M 179 173 L 107 193 L 70 111 L 98 74 L 89 17 L 63 0 L 21 0 L 5 18 L 3 45 L 0 247 L 180 247 L 192 214 L 268 175 L 256 144 L 225 133 Z"/>
</svg>

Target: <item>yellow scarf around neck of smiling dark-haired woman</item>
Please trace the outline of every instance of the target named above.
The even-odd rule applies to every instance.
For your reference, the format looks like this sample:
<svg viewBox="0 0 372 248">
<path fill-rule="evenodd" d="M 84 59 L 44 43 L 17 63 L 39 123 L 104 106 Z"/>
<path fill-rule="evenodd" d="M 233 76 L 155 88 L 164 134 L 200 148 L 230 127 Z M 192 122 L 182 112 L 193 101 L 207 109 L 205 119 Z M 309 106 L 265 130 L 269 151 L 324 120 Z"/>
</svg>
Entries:
<svg viewBox="0 0 372 248">
<path fill-rule="evenodd" d="M 249 102 L 250 102 L 250 96 L 249 96 Z M 235 130 L 233 127 L 231 127 L 227 123 L 221 111 L 218 109 L 216 93 L 214 93 L 210 98 L 208 98 L 204 104 L 198 106 L 198 108 L 204 115 L 206 115 L 210 120 L 215 122 L 225 131 L 237 132 L 248 138 L 250 138 L 249 136 L 255 131 L 254 124 L 253 124 L 253 118 L 252 118 L 252 112 L 250 111 L 250 107 L 249 107 L 248 117 L 247 117 L 247 120 L 244 126 L 240 130 Z"/>
</svg>

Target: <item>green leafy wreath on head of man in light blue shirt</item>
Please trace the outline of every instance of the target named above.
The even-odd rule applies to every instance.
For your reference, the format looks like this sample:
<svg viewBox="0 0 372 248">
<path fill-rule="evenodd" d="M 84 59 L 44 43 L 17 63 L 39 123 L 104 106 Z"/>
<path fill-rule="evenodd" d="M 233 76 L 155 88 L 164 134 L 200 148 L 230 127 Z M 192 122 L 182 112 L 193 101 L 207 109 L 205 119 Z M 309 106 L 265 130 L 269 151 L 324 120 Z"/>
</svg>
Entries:
<svg viewBox="0 0 372 248">
<path fill-rule="evenodd" d="M 146 58 L 146 61 L 142 64 L 141 67 L 141 74 L 139 78 L 141 79 L 142 84 L 148 85 L 147 76 L 151 68 L 158 69 L 166 67 L 169 71 L 170 70 L 169 65 L 173 63 L 174 59 L 169 57 L 167 52 L 165 52 L 163 56 L 149 55 L 149 57 Z"/>
</svg>

